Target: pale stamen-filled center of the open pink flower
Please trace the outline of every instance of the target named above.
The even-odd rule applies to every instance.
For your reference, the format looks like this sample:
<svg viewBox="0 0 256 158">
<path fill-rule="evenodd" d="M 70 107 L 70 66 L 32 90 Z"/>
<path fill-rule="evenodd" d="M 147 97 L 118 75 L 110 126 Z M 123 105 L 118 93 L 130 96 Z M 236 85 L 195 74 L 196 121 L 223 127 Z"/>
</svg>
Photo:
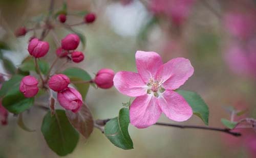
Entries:
<svg viewBox="0 0 256 158">
<path fill-rule="evenodd" d="M 147 83 L 147 94 L 153 93 L 155 97 L 159 97 L 160 93 L 163 93 L 165 89 L 161 86 L 162 83 L 159 81 L 154 81 L 152 78 Z"/>
</svg>

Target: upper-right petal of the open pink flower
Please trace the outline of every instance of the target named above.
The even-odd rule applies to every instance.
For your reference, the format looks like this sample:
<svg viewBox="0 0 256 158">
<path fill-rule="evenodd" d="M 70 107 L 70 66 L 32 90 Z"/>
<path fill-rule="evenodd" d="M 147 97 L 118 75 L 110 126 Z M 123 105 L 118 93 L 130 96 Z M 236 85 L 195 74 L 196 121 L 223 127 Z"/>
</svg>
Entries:
<svg viewBox="0 0 256 158">
<path fill-rule="evenodd" d="M 155 79 L 164 82 L 165 89 L 175 90 L 183 85 L 193 73 L 194 68 L 188 59 L 175 58 L 158 69 Z"/>
</svg>

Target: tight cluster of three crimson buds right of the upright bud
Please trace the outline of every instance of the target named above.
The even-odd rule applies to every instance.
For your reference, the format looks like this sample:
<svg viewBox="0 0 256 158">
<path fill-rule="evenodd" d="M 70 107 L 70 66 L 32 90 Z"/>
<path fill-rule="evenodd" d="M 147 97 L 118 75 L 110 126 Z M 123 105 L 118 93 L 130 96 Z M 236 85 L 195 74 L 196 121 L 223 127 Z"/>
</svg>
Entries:
<svg viewBox="0 0 256 158">
<path fill-rule="evenodd" d="M 59 58 L 68 57 L 71 53 L 71 59 L 75 63 L 83 61 L 84 55 L 81 51 L 75 50 L 80 43 L 80 38 L 76 34 L 69 34 L 61 40 L 61 47 L 56 49 L 56 55 Z"/>
</svg>

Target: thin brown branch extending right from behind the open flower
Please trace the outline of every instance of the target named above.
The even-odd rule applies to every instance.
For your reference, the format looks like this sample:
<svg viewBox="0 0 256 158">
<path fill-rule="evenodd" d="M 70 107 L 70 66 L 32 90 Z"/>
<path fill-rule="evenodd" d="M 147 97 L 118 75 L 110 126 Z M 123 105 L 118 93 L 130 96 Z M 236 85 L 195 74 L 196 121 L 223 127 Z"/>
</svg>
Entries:
<svg viewBox="0 0 256 158">
<path fill-rule="evenodd" d="M 109 120 L 110 119 L 96 120 L 95 123 L 97 125 L 104 126 L 106 124 L 106 122 L 108 122 Z M 157 122 L 154 125 L 177 127 L 177 128 L 193 128 L 193 129 L 214 130 L 214 131 L 220 131 L 220 132 L 223 132 L 223 133 L 235 136 L 235 137 L 241 136 L 241 133 L 231 131 L 231 129 L 228 129 L 228 128 L 218 128 L 218 127 L 199 126 L 199 125 L 182 125 L 182 124 L 172 124 L 172 123 L 164 123 L 164 122 Z"/>
</svg>

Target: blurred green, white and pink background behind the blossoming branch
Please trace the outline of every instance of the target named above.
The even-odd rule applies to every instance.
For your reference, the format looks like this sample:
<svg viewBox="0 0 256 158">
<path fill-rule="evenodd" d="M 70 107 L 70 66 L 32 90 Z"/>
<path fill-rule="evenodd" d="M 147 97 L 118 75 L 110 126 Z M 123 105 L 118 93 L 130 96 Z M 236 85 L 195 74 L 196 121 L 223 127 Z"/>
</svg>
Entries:
<svg viewBox="0 0 256 158">
<path fill-rule="evenodd" d="M 3 55 L 15 66 L 27 57 L 32 32 L 16 38 L 17 28 L 33 27 L 33 20 L 46 14 L 50 1 L 0 1 L 0 40 L 11 50 Z M 54 8 L 63 1 L 56 0 Z M 209 106 L 209 125 L 224 127 L 221 118 L 229 119 L 227 106 L 248 109 L 247 117 L 256 117 L 256 1 L 253 0 L 68 0 L 67 23 L 82 21 L 74 16 L 79 11 L 92 11 L 93 24 L 74 27 L 86 36 L 85 60 L 79 66 L 92 76 L 101 68 L 136 71 L 136 50 L 156 51 L 164 62 L 185 57 L 195 73 L 181 89 L 198 92 Z M 31 20 L 32 19 L 32 20 Z M 40 30 L 37 31 L 39 35 Z M 69 31 L 59 28 L 58 38 Z M 55 57 L 56 45 L 51 34 L 49 63 Z M 61 61 L 58 63 L 61 65 Z M 0 72 L 6 73 L 3 66 Z M 122 102 L 129 101 L 113 87 L 109 90 L 90 88 L 86 102 L 95 119 L 118 115 Z M 43 100 L 44 101 L 44 100 Z M 17 117 L 9 115 L 8 124 L 0 126 L 0 157 L 58 157 L 47 146 L 40 131 L 46 112 L 32 108 L 25 113 L 27 126 L 33 133 L 17 125 Z M 164 115 L 160 121 L 173 122 Z M 203 125 L 193 116 L 182 124 Z M 245 138 L 232 138 L 216 131 L 151 126 L 129 127 L 133 150 L 122 150 L 95 128 L 91 137 L 80 141 L 67 157 L 254 157 L 255 133 L 248 145 Z M 253 144 L 253 142 L 255 142 Z"/>
</svg>

